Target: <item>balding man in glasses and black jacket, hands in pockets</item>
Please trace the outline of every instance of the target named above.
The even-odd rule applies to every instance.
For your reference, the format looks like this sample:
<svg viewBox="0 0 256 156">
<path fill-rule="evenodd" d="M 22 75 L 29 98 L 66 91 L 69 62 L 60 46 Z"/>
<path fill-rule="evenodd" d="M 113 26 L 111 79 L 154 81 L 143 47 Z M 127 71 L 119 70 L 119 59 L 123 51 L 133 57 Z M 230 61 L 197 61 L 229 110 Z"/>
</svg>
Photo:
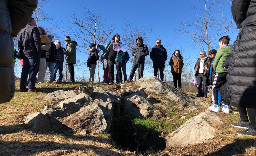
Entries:
<svg viewBox="0 0 256 156">
<path fill-rule="evenodd" d="M 157 72 L 159 68 L 160 79 L 164 81 L 164 63 L 167 60 L 167 52 L 163 45 L 161 45 L 161 40 L 156 41 L 156 45 L 152 48 L 150 52 L 150 59 L 153 61 L 154 76 L 157 77 Z"/>
</svg>

